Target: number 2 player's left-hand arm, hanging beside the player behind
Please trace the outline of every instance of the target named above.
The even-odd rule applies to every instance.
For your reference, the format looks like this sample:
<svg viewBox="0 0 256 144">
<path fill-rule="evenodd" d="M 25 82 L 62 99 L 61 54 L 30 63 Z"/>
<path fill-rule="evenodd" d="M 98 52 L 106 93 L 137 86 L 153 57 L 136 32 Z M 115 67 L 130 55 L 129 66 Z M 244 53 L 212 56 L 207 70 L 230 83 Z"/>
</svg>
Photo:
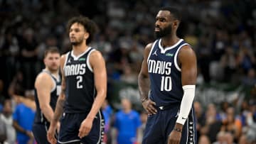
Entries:
<svg viewBox="0 0 256 144">
<path fill-rule="evenodd" d="M 64 74 L 64 70 L 63 70 L 64 64 L 65 64 L 65 59 L 66 59 L 65 55 L 62 55 L 60 57 L 60 71 L 61 71 L 61 75 L 62 75 L 61 92 L 60 92 L 60 96 L 58 96 L 53 119 L 52 119 L 52 121 L 50 121 L 50 128 L 47 133 L 47 139 L 51 144 L 57 143 L 57 140 L 55 139 L 54 135 L 55 135 L 55 130 L 58 126 L 58 121 L 60 119 L 60 116 L 63 113 L 63 106 L 65 103 L 65 74 Z"/>
</svg>

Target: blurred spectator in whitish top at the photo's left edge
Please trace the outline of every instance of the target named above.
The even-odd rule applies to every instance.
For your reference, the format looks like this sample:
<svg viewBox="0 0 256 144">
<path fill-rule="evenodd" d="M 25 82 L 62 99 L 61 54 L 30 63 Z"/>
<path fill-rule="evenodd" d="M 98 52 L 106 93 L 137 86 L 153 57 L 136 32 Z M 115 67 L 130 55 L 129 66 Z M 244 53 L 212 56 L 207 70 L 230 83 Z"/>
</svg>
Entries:
<svg viewBox="0 0 256 144">
<path fill-rule="evenodd" d="M 16 131 L 13 125 L 11 100 L 6 99 L 4 101 L 4 109 L 0 113 L 0 121 L 4 122 L 6 126 L 6 143 L 14 144 L 16 143 Z M 1 131 L 1 130 L 0 130 Z"/>
</svg>

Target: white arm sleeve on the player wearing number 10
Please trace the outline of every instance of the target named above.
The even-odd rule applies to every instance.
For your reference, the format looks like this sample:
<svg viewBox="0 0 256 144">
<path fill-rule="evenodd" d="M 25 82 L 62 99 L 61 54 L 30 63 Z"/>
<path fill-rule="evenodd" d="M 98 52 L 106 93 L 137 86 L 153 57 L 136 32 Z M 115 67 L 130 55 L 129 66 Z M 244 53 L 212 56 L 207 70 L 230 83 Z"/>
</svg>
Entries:
<svg viewBox="0 0 256 144">
<path fill-rule="evenodd" d="M 196 85 L 184 85 L 182 88 L 184 94 L 181 100 L 181 107 L 176 123 L 184 125 L 186 119 L 188 118 L 188 114 L 191 111 L 193 99 L 195 97 L 196 92 Z"/>
</svg>

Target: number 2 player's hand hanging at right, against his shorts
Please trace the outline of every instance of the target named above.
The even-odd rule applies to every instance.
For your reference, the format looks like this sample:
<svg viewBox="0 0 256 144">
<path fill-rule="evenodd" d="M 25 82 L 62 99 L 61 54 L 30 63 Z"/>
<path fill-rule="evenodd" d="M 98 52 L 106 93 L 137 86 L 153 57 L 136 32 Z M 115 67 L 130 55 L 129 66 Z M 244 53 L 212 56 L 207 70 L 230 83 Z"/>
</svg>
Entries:
<svg viewBox="0 0 256 144">
<path fill-rule="evenodd" d="M 94 118 L 85 118 L 85 120 L 82 121 L 78 133 L 79 138 L 83 138 L 90 133 L 90 130 L 92 129 L 93 119 Z"/>
</svg>

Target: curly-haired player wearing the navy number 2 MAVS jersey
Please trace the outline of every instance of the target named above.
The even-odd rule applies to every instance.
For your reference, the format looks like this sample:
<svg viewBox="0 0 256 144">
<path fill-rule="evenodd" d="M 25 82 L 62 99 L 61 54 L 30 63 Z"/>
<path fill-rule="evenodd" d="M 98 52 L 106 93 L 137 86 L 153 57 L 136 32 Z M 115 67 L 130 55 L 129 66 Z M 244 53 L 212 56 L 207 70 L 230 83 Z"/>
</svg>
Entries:
<svg viewBox="0 0 256 144">
<path fill-rule="evenodd" d="M 87 17 L 74 17 L 68 22 L 73 50 L 60 58 L 62 91 L 48 131 L 50 143 L 56 143 L 54 132 L 61 114 L 58 143 L 102 141 L 100 107 L 106 98 L 107 72 L 102 54 L 88 46 L 95 30 L 95 23 Z"/>
</svg>

